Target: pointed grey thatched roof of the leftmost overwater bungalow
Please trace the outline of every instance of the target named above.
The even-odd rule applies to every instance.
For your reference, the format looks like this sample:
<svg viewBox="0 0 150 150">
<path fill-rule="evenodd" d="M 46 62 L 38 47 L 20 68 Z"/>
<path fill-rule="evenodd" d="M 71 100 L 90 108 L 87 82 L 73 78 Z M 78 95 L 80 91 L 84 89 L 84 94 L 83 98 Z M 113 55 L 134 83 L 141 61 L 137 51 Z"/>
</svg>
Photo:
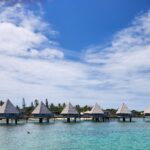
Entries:
<svg viewBox="0 0 150 150">
<path fill-rule="evenodd" d="M 17 108 L 11 103 L 10 100 L 7 100 L 1 107 L 0 107 L 0 114 L 19 114 Z"/>
</svg>

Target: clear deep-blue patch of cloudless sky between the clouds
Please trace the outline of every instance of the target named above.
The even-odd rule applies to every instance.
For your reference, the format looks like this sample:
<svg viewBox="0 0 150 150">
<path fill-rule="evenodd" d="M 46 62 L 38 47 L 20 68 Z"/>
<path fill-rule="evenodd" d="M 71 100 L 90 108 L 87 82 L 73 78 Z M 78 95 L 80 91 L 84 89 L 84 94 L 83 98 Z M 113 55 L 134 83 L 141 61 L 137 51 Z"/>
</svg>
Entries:
<svg viewBox="0 0 150 150">
<path fill-rule="evenodd" d="M 82 50 L 107 43 L 113 34 L 130 25 L 150 8 L 148 0 L 65 0 L 42 4 L 44 18 L 59 31 L 65 49 Z"/>
</svg>

